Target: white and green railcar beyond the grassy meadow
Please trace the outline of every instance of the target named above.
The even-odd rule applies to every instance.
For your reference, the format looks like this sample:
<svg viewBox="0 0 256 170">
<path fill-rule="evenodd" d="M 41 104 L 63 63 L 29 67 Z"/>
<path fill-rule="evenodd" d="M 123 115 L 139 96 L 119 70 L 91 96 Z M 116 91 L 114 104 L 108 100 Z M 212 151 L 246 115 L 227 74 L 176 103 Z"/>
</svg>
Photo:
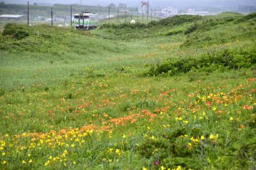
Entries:
<svg viewBox="0 0 256 170">
<path fill-rule="evenodd" d="M 98 25 L 98 15 L 96 13 L 76 13 L 74 15 L 76 29 L 95 29 Z"/>
</svg>

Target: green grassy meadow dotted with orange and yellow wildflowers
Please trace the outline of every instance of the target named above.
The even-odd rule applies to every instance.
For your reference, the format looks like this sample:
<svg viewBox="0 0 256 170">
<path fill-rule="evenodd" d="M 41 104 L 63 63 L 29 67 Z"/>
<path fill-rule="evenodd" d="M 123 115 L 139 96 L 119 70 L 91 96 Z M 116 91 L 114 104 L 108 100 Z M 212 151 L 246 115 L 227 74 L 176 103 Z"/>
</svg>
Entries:
<svg viewBox="0 0 256 170">
<path fill-rule="evenodd" d="M 7 24 L 0 169 L 255 169 L 255 16 Z"/>
</svg>

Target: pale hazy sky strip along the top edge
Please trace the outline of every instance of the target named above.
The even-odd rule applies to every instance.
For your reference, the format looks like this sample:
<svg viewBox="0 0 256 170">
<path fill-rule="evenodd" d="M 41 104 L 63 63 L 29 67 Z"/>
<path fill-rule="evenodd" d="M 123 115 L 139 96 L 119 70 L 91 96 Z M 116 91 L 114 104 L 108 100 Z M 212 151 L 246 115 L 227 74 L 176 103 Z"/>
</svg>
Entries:
<svg viewBox="0 0 256 170">
<path fill-rule="evenodd" d="M 7 1 L 8 3 L 26 3 L 27 0 L 0 0 Z M 80 3 L 80 0 L 30 0 L 31 3 L 63 3 L 74 4 Z M 88 5 L 102 5 L 106 6 L 109 3 L 125 3 L 128 6 L 138 6 L 140 0 L 82 0 L 82 4 Z M 256 6 L 256 0 L 151 0 L 152 6 L 237 6 L 237 5 L 253 5 Z"/>
</svg>

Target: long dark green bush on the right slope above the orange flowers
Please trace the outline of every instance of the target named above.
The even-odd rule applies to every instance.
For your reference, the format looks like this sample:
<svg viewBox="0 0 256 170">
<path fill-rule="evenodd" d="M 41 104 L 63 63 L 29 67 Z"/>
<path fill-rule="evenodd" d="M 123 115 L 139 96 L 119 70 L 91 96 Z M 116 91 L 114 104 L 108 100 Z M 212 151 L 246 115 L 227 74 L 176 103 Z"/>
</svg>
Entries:
<svg viewBox="0 0 256 170">
<path fill-rule="evenodd" d="M 187 73 L 191 69 L 200 69 L 206 72 L 215 70 L 230 70 L 249 68 L 256 64 L 256 47 L 245 49 L 229 49 L 220 52 L 209 52 L 199 57 L 170 58 L 161 65 L 154 65 L 145 75 L 177 75 Z"/>
</svg>

